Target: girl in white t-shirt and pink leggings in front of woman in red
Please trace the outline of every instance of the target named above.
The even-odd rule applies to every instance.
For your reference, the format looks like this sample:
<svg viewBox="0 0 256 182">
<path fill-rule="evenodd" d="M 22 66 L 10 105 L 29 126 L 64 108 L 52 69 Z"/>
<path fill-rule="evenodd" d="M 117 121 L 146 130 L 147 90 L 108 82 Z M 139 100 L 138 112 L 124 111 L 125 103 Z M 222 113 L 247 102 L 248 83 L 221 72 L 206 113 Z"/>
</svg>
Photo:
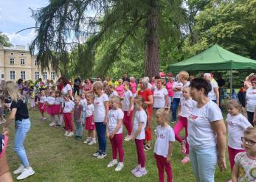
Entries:
<svg viewBox="0 0 256 182">
<path fill-rule="evenodd" d="M 147 125 L 148 116 L 144 109 L 145 102 L 142 97 L 135 97 L 134 106 L 136 108 L 136 113 L 134 117 L 134 126 L 131 141 L 135 141 L 136 144 L 138 165 L 131 170 L 131 173 L 134 174 L 136 177 L 142 177 L 142 175 L 147 174 L 147 170 L 145 168 L 145 153 L 143 141 L 145 140 L 145 127 Z"/>
</svg>

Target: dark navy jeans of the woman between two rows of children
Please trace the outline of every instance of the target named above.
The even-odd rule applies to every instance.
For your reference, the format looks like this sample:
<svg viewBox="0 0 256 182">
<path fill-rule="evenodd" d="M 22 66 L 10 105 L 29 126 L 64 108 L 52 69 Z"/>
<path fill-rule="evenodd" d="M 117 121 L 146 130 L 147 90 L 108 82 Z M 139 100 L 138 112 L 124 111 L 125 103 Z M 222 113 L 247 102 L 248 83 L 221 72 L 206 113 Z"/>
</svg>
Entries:
<svg viewBox="0 0 256 182">
<path fill-rule="evenodd" d="M 98 143 L 99 143 L 99 152 L 105 153 L 107 139 L 105 136 L 106 125 L 103 122 L 95 122 L 95 127 L 97 131 Z"/>
</svg>

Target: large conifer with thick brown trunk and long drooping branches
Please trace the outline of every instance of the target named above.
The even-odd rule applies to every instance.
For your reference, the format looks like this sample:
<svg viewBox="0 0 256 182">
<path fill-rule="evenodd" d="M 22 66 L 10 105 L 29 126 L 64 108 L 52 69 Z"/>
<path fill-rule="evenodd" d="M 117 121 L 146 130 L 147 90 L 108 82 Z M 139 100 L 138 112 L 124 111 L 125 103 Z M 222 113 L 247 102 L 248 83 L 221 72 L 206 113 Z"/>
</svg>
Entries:
<svg viewBox="0 0 256 182">
<path fill-rule="evenodd" d="M 164 15 L 170 17 L 180 9 L 181 0 L 52 0 L 48 6 L 33 11 L 38 35 L 30 49 L 38 49 L 42 69 L 52 65 L 57 71 L 60 61 L 69 65 L 68 51 L 76 48 L 77 57 L 90 66 L 83 71 L 91 71 L 97 47 L 111 41 L 98 61 L 98 68 L 106 73 L 131 38 L 144 44 L 145 73 L 153 77 L 159 74 L 159 23 Z M 89 10 L 95 16 L 88 15 Z"/>
</svg>

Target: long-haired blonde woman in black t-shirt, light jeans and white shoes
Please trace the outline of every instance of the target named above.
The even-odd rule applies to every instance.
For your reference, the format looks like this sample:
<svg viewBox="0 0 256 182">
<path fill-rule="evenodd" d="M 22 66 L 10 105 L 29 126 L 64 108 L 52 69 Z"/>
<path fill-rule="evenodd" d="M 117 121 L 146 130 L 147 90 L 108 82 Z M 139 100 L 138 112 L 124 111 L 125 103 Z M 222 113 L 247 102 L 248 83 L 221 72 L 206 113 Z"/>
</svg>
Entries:
<svg viewBox="0 0 256 182">
<path fill-rule="evenodd" d="M 15 120 L 14 151 L 21 161 L 21 166 L 13 173 L 15 175 L 20 174 L 17 180 L 22 180 L 35 173 L 32 167 L 30 167 L 24 148 L 24 141 L 30 130 L 30 118 L 27 111 L 26 99 L 18 91 L 18 86 L 12 81 L 8 81 L 5 83 L 4 89 L 6 94 L 12 99 L 12 103 L 10 105 L 11 113 L 7 122 L 4 124 L 3 133 L 8 131 L 8 126 Z"/>
</svg>

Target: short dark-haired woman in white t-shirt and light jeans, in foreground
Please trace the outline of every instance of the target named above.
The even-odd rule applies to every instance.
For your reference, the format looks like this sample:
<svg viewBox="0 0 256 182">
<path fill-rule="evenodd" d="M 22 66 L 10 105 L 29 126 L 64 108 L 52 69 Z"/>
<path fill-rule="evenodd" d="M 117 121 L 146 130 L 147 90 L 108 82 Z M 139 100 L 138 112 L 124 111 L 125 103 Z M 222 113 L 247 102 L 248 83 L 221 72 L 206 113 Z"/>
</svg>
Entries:
<svg viewBox="0 0 256 182">
<path fill-rule="evenodd" d="M 207 80 L 195 78 L 190 94 L 197 102 L 187 116 L 190 161 L 196 181 L 214 182 L 216 164 L 226 169 L 226 127 L 221 109 L 207 97 L 212 87 Z"/>
</svg>

